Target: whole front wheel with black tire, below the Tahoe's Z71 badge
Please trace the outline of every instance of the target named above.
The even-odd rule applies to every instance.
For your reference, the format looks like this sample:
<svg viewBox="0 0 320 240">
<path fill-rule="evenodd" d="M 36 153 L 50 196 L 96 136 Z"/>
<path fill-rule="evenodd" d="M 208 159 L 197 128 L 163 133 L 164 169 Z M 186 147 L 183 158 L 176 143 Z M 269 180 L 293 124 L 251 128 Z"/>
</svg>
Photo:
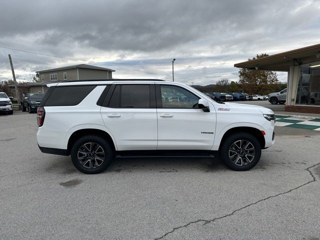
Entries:
<svg viewBox="0 0 320 240">
<path fill-rule="evenodd" d="M 242 153 L 235 153 L 236 156 L 231 155 L 233 154 L 234 148 L 232 148 L 234 146 L 235 142 L 241 141 L 241 143 L 244 144 L 244 146 L 246 145 L 247 142 L 249 142 L 250 144 L 246 147 L 246 151 L 244 152 L 243 158 L 241 157 Z M 253 150 L 251 148 L 251 150 L 249 150 L 250 146 L 253 146 Z M 240 149 L 240 148 L 239 148 Z M 238 149 L 234 149 L 234 150 L 238 150 Z M 243 151 L 243 150 L 242 150 Z M 254 151 L 254 153 L 252 153 L 252 151 Z M 229 154 L 230 152 L 230 154 Z M 250 154 L 250 155 L 249 155 Z M 232 133 L 231 135 L 227 136 L 223 142 L 221 142 L 221 147 L 219 149 L 219 155 L 220 155 L 220 159 L 222 160 L 222 162 L 227 165 L 229 168 L 231 168 L 232 170 L 236 170 L 236 171 L 245 171 L 245 170 L 249 170 L 251 169 L 253 166 L 255 166 L 258 161 L 260 160 L 261 157 L 261 145 L 259 143 L 259 141 L 256 139 L 255 136 L 246 133 L 246 132 L 236 132 L 236 133 Z M 240 157 L 239 157 L 240 155 Z M 253 157 L 251 156 L 253 155 Z M 232 158 L 235 157 L 235 158 Z M 234 159 L 232 161 L 232 159 Z M 240 162 L 239 162 L 240 161 Z M 241 165 L 240 165 L 241 163 Z"/>
</svg>

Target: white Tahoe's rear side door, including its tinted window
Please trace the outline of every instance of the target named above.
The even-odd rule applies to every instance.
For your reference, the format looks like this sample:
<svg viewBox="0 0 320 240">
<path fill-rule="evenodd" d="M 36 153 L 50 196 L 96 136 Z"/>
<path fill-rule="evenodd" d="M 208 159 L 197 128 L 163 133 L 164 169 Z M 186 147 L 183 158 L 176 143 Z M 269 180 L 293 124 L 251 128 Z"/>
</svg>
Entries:
<svg viewBox="0 0 320 240">
<path fill-rule="evenodd" d="M 101 116 L 118 150 L 155 150 L 157 119 L 154 84 L 112 84 Z"/>
</svg>

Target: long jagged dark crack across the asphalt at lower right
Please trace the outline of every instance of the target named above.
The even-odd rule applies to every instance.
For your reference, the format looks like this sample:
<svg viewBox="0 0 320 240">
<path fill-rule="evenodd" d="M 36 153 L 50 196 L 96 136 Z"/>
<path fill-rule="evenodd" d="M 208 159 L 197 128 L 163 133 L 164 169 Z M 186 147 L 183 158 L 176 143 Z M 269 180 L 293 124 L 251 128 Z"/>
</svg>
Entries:
<svg viewBox="0 0 320 240">
<path fill-rule="evenodd" d="M 297 186 L 297 187 L 291 188 L 291 189 L 289 189 L 289 190 L 287 190 L 287 191 L 280 192 L 280 193 L 275 194 L 275 195 L 271 195 L 271 196 L 262 198 L 262 199 L 260 199 L 260 200 L 258 200 L 258 201 L 252 202 L 252 203 L 247 204 L 247 205 L 245 205 L 245 206 L 243 206 L 243 207 L 240 207 L 240 208 L 238 208 L 238 209 L 235 209 L 235 210 L 232 211 L 231 213 L 225 214 L 225 215 L 223 215 L 223 216 L 215 217 L 215 218 L 209 219 L 209 220 L 198 219 L 198 220 L 195 220 L 195 221 L 190 221 L 190 222 L 188 222 L 188 223 L 186 223 L 186 224 L 184 224 L 184 225 L 181 225 L 181 226 L 173 227 L 173 229 L 172 229 L 171 231 L 166 232 L 165 234 L 163 234 L 162 236 L 160 236 L 160 237 L 158 237 L 158 238 L 154 238 L 154 240 L 161 239 L 161 238 L 165 237 L 166 235 L 174 232 L 175 230 L 180 229 L 180 228 L 182 228 L 182 227 L 187 227 L 187 226 L 189 226 L 190 224 L 194 224 L 194 223 L 203 221 L 203 222 L 204 222 L 203 225 L 206 225 L 206 224 L 208 224 L 208 223 L 214 222 L 214 221 L 219 220 L 219 219 L 222 219 L 222 218 L 224 218 L 224 217 L 231 216 L 231 215 L 233 215 L 234 213 L 236 213 L 236 212 L 238 212 L 238 211 L 240 211 L 240 210 L 243 210 L 243 209 L 245 209 L 245 208 L 247 208 L 247 207 L 249 207 L 249 206 L 255 205 L 255 204 L 257 204 L 257 203 L 259 203 L 259 202 L 261 202 L 261 201 L 265 201 L 265 200 L 267 200 L 267 199 L 270 199 L 270 198 L 273 198 L 273 197 L 277 197 L 277 196 L 279 196 L 279 195 L 283 195 L 283 194 L 289 193 L 289 192 L 291 192 L 291 191 L 293 191 L 293 190 L 296 190 L 296 189 L 298 189 L 298 188 L 300 188 L 300 187 L 302 187 L 302 186 L 305 186 L 305 185 L 307 185 L 307 184 L 309 184 L 309 183 L 311 183 L 311 182 L 314 182 L 314 181 L 316 181 L 316 178 L 315 178 L 315 176 L 313 175 L 313 173 L 312 173 L 312 171 L 311 171 L 310 169 L 311 169 L 312 167 L 317 166 L 317 165 L 320 165 L 320 162 L 318 162 L 318 163 L 316 163 L 316 164 L 314 164 L 314 165 L 312 165 L 312 166 L 309 166 L 309 167 L 307 167 L 306 169 L 304 169 L 304 170 L 307 170 L 307 171 L 309 172 L 310 176 L 312 177 L 312 180 L 307 181 L 307 182 L 305 182 L 305 183 L 303 183 L 303 184 L 301 184 L 301 185 L 299 185 L 299 186 Z"/>
</svg>

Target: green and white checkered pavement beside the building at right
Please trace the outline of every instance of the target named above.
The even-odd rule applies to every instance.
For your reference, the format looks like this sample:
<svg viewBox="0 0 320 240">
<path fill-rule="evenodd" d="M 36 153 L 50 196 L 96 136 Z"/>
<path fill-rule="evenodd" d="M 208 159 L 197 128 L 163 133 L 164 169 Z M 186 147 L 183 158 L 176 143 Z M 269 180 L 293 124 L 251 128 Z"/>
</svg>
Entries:
<svg viewBox="0 0 320 240">
<path fill-rule="evenodd" d="M 275 125 L 320 131 L 320 118 L 275 115 Z"/>
</svg>

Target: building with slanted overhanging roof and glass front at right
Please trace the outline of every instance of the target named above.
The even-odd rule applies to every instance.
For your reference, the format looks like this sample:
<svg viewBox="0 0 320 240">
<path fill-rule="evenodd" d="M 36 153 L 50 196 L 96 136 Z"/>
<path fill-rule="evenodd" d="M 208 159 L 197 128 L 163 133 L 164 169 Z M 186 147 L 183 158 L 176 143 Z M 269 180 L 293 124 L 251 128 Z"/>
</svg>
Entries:
<svg viewBox="0 0 320 240">
<path fill-rule="evenodd" d="M 320 44 L 236 63 L 234 66 L 286 71 L 285 111 L 320 113 Z"/>
</svg>

